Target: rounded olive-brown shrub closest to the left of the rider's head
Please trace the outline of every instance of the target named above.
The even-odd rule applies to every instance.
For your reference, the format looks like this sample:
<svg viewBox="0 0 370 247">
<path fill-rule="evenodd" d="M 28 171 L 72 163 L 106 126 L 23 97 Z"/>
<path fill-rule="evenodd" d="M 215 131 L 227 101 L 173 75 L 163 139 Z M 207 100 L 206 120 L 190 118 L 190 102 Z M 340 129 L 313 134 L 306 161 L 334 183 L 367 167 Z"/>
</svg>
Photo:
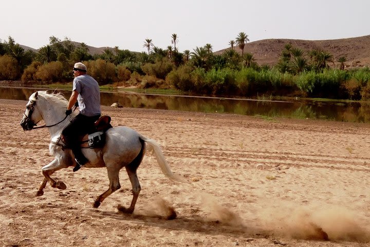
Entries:
<svg viewBox="0 0 370 247">
<path fill-rule="evenodd" d="M 59 61 L 46 63 L 38 67 L 34 78 L 44 82 L 60 81 L 63 73 L 63 64 Z"/>
</svg>

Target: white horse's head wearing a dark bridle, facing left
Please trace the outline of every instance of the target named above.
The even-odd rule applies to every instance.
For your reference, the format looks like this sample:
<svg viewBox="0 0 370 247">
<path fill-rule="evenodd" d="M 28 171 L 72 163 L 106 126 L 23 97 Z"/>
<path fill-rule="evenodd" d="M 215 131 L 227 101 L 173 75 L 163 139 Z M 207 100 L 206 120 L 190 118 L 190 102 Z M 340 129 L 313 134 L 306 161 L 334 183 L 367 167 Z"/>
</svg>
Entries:
<svg viewBox="0 0 370 247">
<path fill-rule="evenodd" d="M 26 110 L 21 121 L 21 126 L 23 130 L 32 130 L 33 127 L 42 120 L 42 115 L 38 107 L 36 107 L 36 102 L 39 98 L 39 92 L 33 93 L 26 104 Z"/>
</svg>

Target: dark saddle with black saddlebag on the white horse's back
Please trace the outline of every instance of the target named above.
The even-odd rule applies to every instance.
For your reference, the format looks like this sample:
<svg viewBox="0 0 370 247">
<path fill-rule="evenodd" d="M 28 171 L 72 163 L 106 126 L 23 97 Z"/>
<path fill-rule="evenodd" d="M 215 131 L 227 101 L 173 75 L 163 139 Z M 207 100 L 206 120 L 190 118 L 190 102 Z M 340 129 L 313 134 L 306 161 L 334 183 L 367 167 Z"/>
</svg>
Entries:
<svg viewBox="0 0 370 247">
<path fill-rule="evenodd" d="M 112 128 L 110 116 L 103 115 L 95 123 L 94 128 L 87 134 L 81 136 L 82 148 L 102 148 L 105 144 L 105 132 Z M 65 144 L 65 138 L 61 135 L 61 140 Z"/>
</svg>

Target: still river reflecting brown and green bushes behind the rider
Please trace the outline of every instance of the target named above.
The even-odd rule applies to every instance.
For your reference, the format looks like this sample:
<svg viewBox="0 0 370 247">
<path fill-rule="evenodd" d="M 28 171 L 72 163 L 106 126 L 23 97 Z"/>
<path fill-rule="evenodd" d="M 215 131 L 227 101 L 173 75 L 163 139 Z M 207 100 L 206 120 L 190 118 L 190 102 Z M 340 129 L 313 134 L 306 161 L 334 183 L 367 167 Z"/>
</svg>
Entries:
<svg viewBox="0 0 370 247">
<path fill-rule="evenodd" d="M 28 100 L 36 89 L 1 87 L 0 98 Z M 62 92 L 69 98 L 70 91 Z M 101 93 L 101 103 L 118 102 L 123 107 L 175 111 L 218 112 L 267 117 L 311 118 L 350 122 L 370 122 L 367 102 L 324 101 L 258 101 L 187 96 L 148 95 L 135 93 Z"/>
</svg>

